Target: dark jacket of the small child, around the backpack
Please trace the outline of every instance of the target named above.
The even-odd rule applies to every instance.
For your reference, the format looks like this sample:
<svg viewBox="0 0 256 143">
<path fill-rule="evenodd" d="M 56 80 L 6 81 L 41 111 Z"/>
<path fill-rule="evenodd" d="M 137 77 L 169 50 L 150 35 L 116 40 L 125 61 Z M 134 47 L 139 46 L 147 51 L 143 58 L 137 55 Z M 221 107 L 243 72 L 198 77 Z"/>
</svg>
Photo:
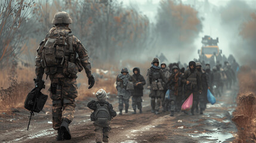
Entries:
<svg viewBox="0 0 256 143">
<path fill-rule="evenodd" d="M 112 104 L 110 104 L 109 102 L 107 101 L 95 101 L 95 100 L 92 100 L 90 102 L 88 102 L 87 104 L 87 107 L 90 108 L 91 110 L 96 110 L 97 109 L 97 104 L 100 104 L 101 106 L 103 106 L 104 104 L 107 104 L 107 109 L 109 110 L 109 114 L 111 116 L 111 119 L 112 117 L 115 117 L 116 116 L 116 111 L 113 110 L 113 106 Z M 94 112 L 92 113 L 94 114 Z M 94 117 L 94 116 L 91 116 L 91 117 Z M 92 120 L 92 119 L 91 119 Z"/>
</svg>

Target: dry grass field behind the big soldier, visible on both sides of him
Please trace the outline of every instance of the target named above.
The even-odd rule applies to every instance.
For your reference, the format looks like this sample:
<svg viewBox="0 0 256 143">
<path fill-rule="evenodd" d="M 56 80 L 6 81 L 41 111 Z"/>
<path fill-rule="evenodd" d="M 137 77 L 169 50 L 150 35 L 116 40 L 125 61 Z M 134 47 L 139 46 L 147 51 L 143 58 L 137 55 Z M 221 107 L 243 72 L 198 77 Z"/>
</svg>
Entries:
<svg viewBox="0 0 256 143">
<path fill-rule="evenodd" d="M 104 71 L 97 70 L 97 68 L 92 69 L 92 73 L 94 73 L 96 77 L 95 85 L 92 89 L 88 89 L 88 78 L 83 70 L 82 73 L 78 74 L 77 83 L 79 86 L 79 95 L 76 100 L 87 100 L 88 97 L 94 97 L 95 92 L 101 88 L 110 94 L 117 94 L 115 85 L 116 76 L 120 73 L 122 67 L 128 67 L 129 74 L 131 75 L 133 74 L 132 69 L 134 67 L 140 67 L 141 74 L 145 77 L 147 68 L 150 67 L 150 62 L 144 64 L 137 61 L 124 61 L 121 65 L 113 63 L 99 64 L 97 65 L 98 69 L 108 70 L 108 72 L 104 73 Z M 18 64 L 13 65 L 14 66 L 10 67 L 9 70 L 0 70 L 0 110 L 23 107 L 27 94 L 34 87 L 33 78 L 35 78 L 35 67 L 22 67 Z M 49 79 L 45 85 L 46 87 L 42 92 L 49 94 Z"/>
</svg>

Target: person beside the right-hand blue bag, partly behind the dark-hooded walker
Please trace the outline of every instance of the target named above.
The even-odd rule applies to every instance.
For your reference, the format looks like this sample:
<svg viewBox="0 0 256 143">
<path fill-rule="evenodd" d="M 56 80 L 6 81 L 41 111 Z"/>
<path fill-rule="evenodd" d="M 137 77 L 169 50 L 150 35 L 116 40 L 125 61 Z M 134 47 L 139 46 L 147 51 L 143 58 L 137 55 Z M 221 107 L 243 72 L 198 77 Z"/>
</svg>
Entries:
<svg viewBox="0 0 256 143">
<path fill-rule="evenodd" d="M 202 64 L 200 62 L 196 62 L 196 69 L 201 75 L 201 82 L 202 82 L 202 94 L 199 95 L 199 106 L 200 106 L 200 114 L 203 114 L 203 110 L 206 108 L 207 104 L 207 89 L 209 87 L 209 80 L 208 76 L 205 71 L 202 70 Z"/>
</svg>

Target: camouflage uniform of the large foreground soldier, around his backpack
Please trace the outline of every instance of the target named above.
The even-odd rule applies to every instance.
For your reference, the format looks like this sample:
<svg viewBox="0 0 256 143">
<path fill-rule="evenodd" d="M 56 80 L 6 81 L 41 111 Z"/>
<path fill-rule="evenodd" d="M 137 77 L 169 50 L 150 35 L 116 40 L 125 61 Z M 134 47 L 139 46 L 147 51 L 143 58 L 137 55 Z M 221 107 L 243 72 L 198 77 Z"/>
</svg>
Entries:
<svg viewBox="0 0 256 143">
<path fill-rule="evenodd" d="M 72 46 L 75 54 L 78 54 L 79 59 L 81 60 L 82 67 L 84 67 L 85 72 L 88 77 L 91 77 L 91 64 L 87 54 L 87 50 L 84 48 L 82 43 L 75 36 L 71 35 L 71 30 L 66 26 L 57 26 L 53 27 L 50 32 L 47 34 L 44 41 L 42 41 L 37 49 L 38 55 L 36 57 L 36 76 L 39 75 L 39 72 L 42 68 L 42 51 L 44 49 L 45 43 L 48 38 L 51 38 L 54 35 L 70 35 L 67 38 L 66 47 Z M 71 41 L 70 41 L 71 40 Z M 65 55 L 66 59 L 69 58 L 68 55 Z M 64 64 L 65 65 L 65 64 Z M 77 85 L 76 85 L 76 73 L 70 76 L 67 76 L 65 73 L 65 66 L 55 66 L 55 67 L 44 67 L 45 73 L 50 77 L 51 88 L 49 91 L 50 97 L 53 100 L 53 129 L 57 130 L 60 128 L 61 120 L 68 119 L 69 122 L 72 122 L 74 113 L 75 113 L 75 98 L 78 96 Z M 55 89 L 53 89 L 55 88 Z M 55 90 L 55 91 L 54 91 Z M 54 92 L 53 92 L 54 91 Z"/>
</svg>

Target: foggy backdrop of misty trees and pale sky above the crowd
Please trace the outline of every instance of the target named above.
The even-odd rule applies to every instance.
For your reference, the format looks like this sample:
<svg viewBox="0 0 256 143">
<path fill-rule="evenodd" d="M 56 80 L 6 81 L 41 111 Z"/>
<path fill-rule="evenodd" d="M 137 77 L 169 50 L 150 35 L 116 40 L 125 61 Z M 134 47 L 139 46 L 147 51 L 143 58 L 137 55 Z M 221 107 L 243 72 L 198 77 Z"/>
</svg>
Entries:
<svg viewBox="0 0 256 143">
<path fill-rule="evenodd" d="M 10 28 L 11 21 L 17 20 L 11 16 L 16 10 L 10 9 L 11 14 L 2 21 L 8 24 L 0 32 L 0 53 L 4 53 L 0 67 L 19 58 L 33 65 L 36 48 L 53 26 L 57 11 L 70 13 L 72 33 L 88 50 L 92 64 L 125 60 L 150 63 L 161 53 L 168 59 L 166 63 L 188 63 L 199 58 L 202 37 L 209 35 L 218 37 L 226 57 L 231 54 L 239 64 L 255 65 L 255 7 L 256 0 L 36 1 L 29 4 L 24 17 L 17 15 L 23 21 L 16 29 Z M 5 8 L 1 11 L 4 13 Z M 13 38 L 4 33 L 11 33 Z"/>
</svg>

